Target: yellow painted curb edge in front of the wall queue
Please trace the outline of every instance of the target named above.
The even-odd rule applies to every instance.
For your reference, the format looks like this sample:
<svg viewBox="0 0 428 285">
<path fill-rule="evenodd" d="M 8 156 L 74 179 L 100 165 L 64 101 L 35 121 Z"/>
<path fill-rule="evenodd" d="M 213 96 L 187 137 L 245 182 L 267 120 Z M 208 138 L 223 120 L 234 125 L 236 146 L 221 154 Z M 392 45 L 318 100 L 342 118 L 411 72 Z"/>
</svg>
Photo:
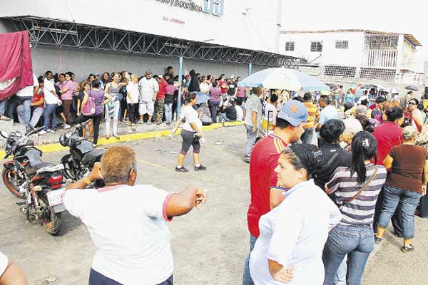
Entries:
<svg viewBox="0 0 428 285">
<path fill-rule="evenodd" d="M 237 125 L 243 125 L 243 122 L 225 122 L 225 126 L 227 127 L 234 127 Z M 222 123 L 215 123 L 211 125 L 204 125 L 202 127 L 202 130 L 215 130 L 218 128 L 222 128 Z M 181 129 L 178 129 L 173 135 L 180 134 Z M 146 132 L 146 133 L 133 133 L 133 134 L 127 134 L 127 135 L 121 135 L 121 139 L 118 140 L 115 137 L 110 137 L 109 139 L 106 138 L 99 138 L 97 145 L 111 145 L 112 143 L 117 142 L 131 142 L 133 140 L 147 140 L 148 138 L 159 138 L 159 137 L 167 137 L 170 135 L 170 130 L 158 130 L 154 132 Z M 59 143 L 51 143 L 47 145 L 36 145 L 39 150 L 49 153 L 49 152 L 58 152 L 62 150 L 68 150 L 68 147 L 63 147 Z M 6 152 L 4 150 L 0 150 L 0 159 L 4 157 Z"/>
</svg>

